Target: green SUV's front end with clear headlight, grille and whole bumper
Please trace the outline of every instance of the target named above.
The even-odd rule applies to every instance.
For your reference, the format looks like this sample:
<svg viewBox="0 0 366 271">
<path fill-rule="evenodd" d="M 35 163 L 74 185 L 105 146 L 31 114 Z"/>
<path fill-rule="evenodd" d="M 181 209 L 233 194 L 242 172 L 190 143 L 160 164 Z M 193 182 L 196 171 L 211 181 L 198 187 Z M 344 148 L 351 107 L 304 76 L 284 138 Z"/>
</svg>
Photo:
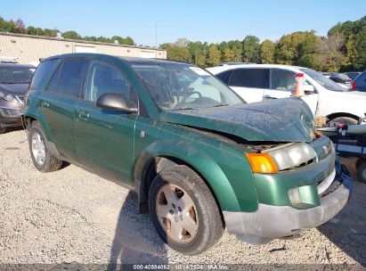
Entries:
<svg viewBox="0 0 366 271">
<path fill-rule="evenodd" d="M 240 240 L 264 243 L 296 237 L 327 222 L 346 206 L 352 179 L 338 163 L 327 136 L 311 143 L 252 148 L 270 155 L 278 172 L 254 172 L 258 196 L 255 212 L 224 211 L 228 231 Z"/>
</svg>

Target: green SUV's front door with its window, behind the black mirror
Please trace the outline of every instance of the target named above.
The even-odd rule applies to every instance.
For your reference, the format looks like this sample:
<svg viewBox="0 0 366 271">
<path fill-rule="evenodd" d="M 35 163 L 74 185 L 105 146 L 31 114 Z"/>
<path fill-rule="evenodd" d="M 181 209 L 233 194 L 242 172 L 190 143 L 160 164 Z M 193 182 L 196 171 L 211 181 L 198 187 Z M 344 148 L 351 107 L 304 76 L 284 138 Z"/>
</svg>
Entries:
<svg viewBox="0 0 366 271">
<path fill-rule="evenodd" d="M 94 60 L 87 71 L 85 97 L 76 103 L 77 158 L 104 177 L 132 185 L 138 115 L 97 107 L 97 99 L 107 93 L 125 94 L 131 106 L 137 107 L 136 94 L 123 71 L 109 62 Z"/>
</svg>

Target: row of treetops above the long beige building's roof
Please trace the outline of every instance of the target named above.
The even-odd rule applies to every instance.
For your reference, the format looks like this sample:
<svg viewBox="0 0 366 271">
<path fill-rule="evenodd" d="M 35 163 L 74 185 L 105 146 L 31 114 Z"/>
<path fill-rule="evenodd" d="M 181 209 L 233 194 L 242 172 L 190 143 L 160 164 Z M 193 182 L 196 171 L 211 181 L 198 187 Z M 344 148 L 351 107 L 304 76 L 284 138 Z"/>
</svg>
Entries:
<svg viewBox="0 0 366 271">
<path fill-rule="evenodd" d="M 61 33 L 58 29 L 42 29 L 36 28 L 33 26 L 26 26 L 25 23 L 18 19 L 17 21 L 5 21 L 2 17 L 0 17 L 0 32 L 9 32 L 9 33 L 18 33 L 18 34 L 28 34 L 28 35 L 36 35 L 36 36 L 45 36 L 45 37 L 57 37 L 58 33 Z M 87 41 L 95 41 L 102 43 L 110 43 L 114 44 L 115 41 L 118 41 L 119 45 L 135 45 L 134 39 L 132 37 L 94 37 L 94 36 L 80 36 L 76 31 L 69 30 L 61 33 L 61 37 L 78 39 L 78 40 L 87 40 Z"/>
</svg>

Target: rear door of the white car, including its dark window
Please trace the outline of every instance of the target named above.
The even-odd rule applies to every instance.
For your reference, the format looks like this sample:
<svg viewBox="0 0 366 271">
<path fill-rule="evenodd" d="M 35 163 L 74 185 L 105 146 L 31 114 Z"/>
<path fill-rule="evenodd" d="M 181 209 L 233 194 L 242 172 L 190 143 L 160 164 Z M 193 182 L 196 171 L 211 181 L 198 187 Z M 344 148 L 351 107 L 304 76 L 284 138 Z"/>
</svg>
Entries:
<svg viewBox="0 0 366 271">
<path fill-rule="evenodd" d="M 228 85 L 247 103 L 262 102 L 268 87 L 268 73 L 268 69 L 238 68 L 232 70 Z"/>
</svg>

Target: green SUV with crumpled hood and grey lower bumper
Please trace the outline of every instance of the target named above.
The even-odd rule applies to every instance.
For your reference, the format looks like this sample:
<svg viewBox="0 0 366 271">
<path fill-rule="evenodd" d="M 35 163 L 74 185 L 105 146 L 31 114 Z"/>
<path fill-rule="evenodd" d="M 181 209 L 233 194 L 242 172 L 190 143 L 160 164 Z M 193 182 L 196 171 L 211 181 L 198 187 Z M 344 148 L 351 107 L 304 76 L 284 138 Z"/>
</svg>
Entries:
<svg viewBox="0 0 366 271">
<path fill-rule="evenodd" d="M 197 66 L 94 53 L 40 63 L 25 99 L 37 169 L 62 161 L 138 194 L 185 254 L 224 228 L 247 242 L 296 236 L 349 197 L 336 154 L 298 98 L 247 104 Z"/>
</svg>

